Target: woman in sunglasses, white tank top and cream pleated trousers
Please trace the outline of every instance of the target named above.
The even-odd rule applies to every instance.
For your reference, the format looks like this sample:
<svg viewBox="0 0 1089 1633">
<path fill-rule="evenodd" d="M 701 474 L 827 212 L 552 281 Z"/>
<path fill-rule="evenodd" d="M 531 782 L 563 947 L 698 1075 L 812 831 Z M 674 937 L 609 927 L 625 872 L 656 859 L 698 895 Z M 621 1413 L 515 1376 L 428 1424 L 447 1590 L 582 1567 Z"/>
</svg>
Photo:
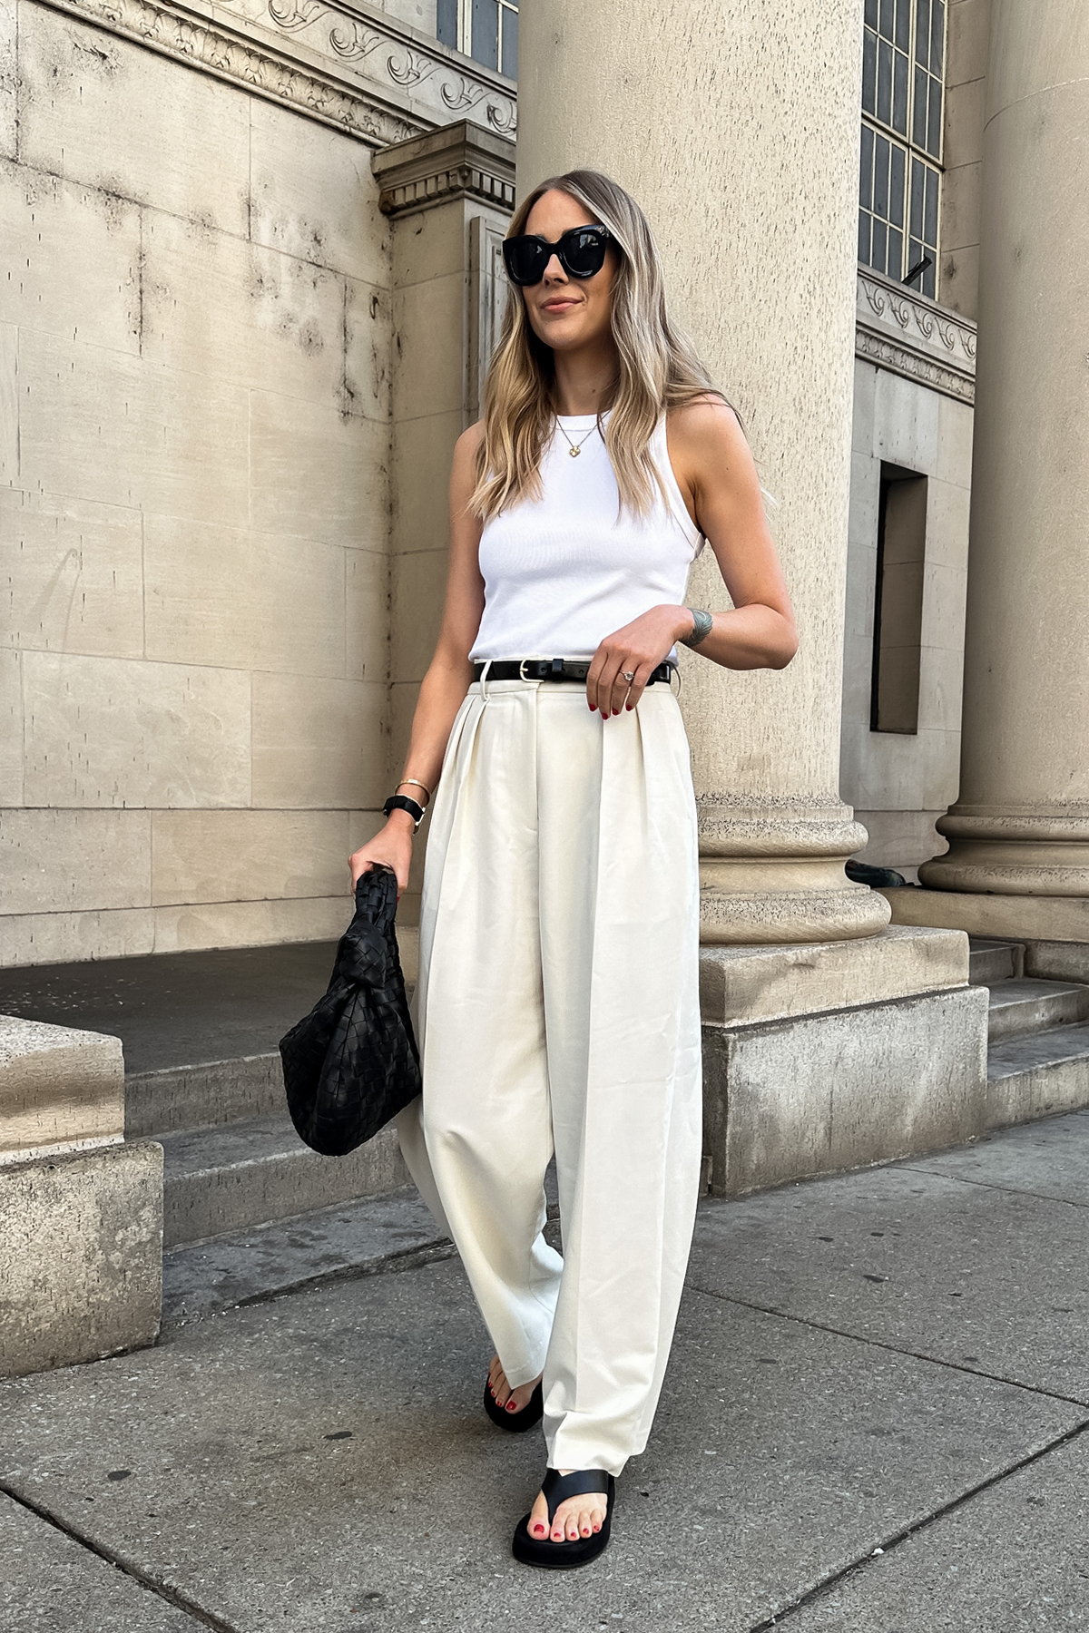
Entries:
<svg viewBox="0 0 1089 1633">
<path fill-rule="evenodd" d="M 402 1150 L 495 1342 L 488 1414 L 544 1416 L 549 1468 L 516 1558 L 606 1546 L 643 1450 L 700 1164 L 699 875 L 676 642 L 782 668 L 790 603 L 733 410 L 666 315 L 635 201 L 542 183 L 482 423 L 459 439 L 451 557 L 387 825 L 351 857 L 423 885 L 423 1101 Z M 684 606 L 704 539 L 733 609 Z M 563 1257 L 544 1239 L 555 1153 Z"/>
</svg>

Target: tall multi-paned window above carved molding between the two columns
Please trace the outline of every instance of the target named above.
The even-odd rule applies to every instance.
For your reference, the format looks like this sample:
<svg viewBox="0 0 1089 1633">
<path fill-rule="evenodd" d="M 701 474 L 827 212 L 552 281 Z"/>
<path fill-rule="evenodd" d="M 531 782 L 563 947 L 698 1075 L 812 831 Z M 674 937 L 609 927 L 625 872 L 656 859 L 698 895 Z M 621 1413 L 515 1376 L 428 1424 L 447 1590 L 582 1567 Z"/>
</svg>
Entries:
<svg viewBox="0 0 1089 1633">
<path fill-rule="evenodd" d="M 945 0 L 865 0 L 859 260 L 934 299 Z"/>
</svg>

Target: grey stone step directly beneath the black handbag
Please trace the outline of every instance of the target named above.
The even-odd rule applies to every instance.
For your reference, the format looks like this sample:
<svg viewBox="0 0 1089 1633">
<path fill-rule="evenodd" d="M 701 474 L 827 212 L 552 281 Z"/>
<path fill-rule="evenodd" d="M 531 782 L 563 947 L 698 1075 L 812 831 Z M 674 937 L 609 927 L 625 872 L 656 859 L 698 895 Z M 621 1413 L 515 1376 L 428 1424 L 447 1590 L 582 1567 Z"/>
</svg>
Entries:
<svg viewBox="0 0 1089 1633">
<path fill-rule="evenodd" d="M 165 1133 L 160 1143 L 163 1249 L 408 1182 L 392 1127 L 349 1156 L 310 1151 L 284 1114 Z"/>
</svg>

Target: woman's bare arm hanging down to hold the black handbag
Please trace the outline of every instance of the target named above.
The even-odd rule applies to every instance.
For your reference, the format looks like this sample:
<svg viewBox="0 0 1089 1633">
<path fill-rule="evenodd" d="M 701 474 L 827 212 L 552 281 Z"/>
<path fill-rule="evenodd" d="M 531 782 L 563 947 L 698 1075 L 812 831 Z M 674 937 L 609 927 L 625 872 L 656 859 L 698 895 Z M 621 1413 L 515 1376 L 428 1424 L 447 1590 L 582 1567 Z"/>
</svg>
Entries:
<svg viewBox="0 0 1089 1633">
<path fill-rule="evenodd" d="M 402 789 L 411 799 L 426 805 L 423 782 L 434 794 L 434 787 L 442 772 L 442 756 L 454 725 L 454 717 L 460 709 L 469 684 L 472 681 L 472 663 L 469 652 L 483 614 L 483 578 L 480 576 L 480 521 L 469 509 L 469 500 L 477 487 L 477 447 L 483 434 L 482 425 L 473 425 L 457 439 L 454 449 L 454 469 L 451 472 L 451 555 L 446 576 L 446 604 L 442 607 L 442 627 L 434 648 L 434 658 L 420 686 L 416 712 L 411 719 L 411 738 L 405 758 L 403 777 L 411 777 L 411 785 Z M 398 784 L 398 789 L 402 785 Z M 397 874 L 397 893 L 408 883 L 408 864 L 411 862 L 413 820 L 408 812 L 392 812 L 385 826 L 376 833 L 374 839 L 348 859 L 351 867 L 351 885 L 361 874 L 366 874 L 376 862 L 384 862 Z"/>
</svg>

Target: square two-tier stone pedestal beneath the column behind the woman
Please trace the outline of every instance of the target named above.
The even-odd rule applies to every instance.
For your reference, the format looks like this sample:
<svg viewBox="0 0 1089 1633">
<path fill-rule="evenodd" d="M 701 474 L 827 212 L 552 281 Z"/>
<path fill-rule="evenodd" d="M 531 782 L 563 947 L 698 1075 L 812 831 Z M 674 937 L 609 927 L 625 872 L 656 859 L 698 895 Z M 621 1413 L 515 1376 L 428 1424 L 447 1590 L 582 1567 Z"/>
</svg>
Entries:
<svg viewBox="0 0 1089 1633">
<path fill-rule="evenodd" d="M 942 929 L 700 954 L 710 1190 L 958 1145 L 986 1125 L 988 993 Z"/>
</svg>

